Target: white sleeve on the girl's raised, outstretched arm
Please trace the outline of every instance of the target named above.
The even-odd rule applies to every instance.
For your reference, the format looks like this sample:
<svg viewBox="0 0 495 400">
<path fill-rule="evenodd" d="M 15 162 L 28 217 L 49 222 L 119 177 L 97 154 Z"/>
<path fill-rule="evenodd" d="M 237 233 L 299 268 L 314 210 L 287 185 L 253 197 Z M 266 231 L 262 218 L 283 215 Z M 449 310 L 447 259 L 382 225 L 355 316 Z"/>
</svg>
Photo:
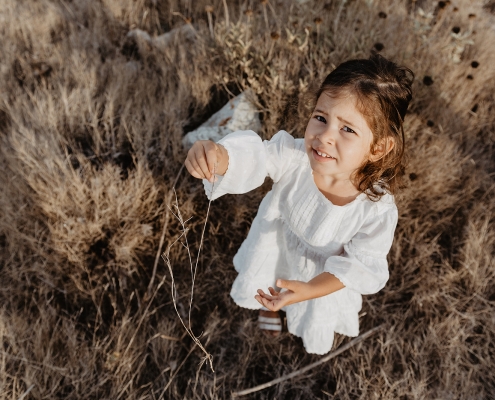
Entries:
<svg viewBox="0 0 495 400">
<path fill-rule="evenodd" d="M 206 195 L 212 200 L 226 193 L 247 193 L 261 186 L 267 176 L 277 182 L 290 165 L 295 139 L 280 131 L 270 141 L 262 142 L 253 131 L 237 131 L 218 143 L 227 150 L 229 165 L 224 176 L 217 175 L 214 185 L 203 180 Z"/>
</svg>

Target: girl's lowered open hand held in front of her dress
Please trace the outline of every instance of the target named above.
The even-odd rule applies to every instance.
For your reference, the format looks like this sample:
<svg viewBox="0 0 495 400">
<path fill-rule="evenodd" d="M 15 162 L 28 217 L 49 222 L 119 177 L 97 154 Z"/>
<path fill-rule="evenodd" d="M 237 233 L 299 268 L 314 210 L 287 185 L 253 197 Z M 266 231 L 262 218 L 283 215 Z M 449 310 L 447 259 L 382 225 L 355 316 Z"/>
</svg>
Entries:
<svg viewBox="0 0 495 400">
<path fill-rule="evenodd" d="M 258 289 L 258 294 L 254 298 L 271 311 L 278 311 L 289 304 L 299 303 L 311 298 L 310 283 L 278 279 L 277 286 L 287 290 L 277 292 L 274 288 L 269 287 L 270 294 L 267 294 Z"/>
</svg>

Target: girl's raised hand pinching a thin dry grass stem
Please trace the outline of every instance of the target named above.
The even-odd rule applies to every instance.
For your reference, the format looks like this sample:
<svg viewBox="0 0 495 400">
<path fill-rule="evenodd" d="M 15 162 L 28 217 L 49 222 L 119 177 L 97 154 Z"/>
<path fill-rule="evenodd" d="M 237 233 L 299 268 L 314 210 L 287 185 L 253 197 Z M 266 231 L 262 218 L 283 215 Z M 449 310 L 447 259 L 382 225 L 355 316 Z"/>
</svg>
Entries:
<svg viewBox="0 0 495 400">
<path fill-rule="evenodd" d="M 195 178 L 213 182 L 215 174 L 223 175 L 227 171 L 229 154 L 220 144 L 211 140 L 198 140 L 187 153 L 184 164 Z"/>
</svg>

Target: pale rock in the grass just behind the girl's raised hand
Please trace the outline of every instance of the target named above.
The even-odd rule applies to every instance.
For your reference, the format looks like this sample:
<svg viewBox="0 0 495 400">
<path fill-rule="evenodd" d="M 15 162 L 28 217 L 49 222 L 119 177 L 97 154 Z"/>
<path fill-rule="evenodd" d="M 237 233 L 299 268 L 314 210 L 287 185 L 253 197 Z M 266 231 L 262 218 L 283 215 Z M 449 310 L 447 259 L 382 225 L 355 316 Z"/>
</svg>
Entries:
<svg viewBox="0 0 495 400">
<path fill-rule="evenodd" d="M 249 101 L 250 98 L 254 99 L 255 95 L 249 90 L 231 99 L 198 129 L 184 136 L 182 140 L 184 147 L 190 148 L 197 140 L 216 142 L 229 133 L 239 130 L 259 131 L 261 128 L 259 113 Z"/>
</svg>

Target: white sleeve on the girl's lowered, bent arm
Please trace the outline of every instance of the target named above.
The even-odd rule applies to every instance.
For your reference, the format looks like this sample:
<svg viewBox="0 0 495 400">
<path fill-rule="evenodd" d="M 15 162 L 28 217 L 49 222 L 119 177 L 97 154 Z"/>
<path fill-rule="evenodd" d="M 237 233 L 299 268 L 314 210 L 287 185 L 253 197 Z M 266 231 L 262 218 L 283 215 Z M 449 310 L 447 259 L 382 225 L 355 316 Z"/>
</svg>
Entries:
<svg viewBox="0 0 495 400">
<path fill-rule="evenodd" d="M 344 254 L 327 259 L 325 271 L 358 293 L 378 292 L 389 278 L 387 254 L 392 246 L 397 218 L 395 206 L 370 218 L 344 245 Z"/>
</svg>

